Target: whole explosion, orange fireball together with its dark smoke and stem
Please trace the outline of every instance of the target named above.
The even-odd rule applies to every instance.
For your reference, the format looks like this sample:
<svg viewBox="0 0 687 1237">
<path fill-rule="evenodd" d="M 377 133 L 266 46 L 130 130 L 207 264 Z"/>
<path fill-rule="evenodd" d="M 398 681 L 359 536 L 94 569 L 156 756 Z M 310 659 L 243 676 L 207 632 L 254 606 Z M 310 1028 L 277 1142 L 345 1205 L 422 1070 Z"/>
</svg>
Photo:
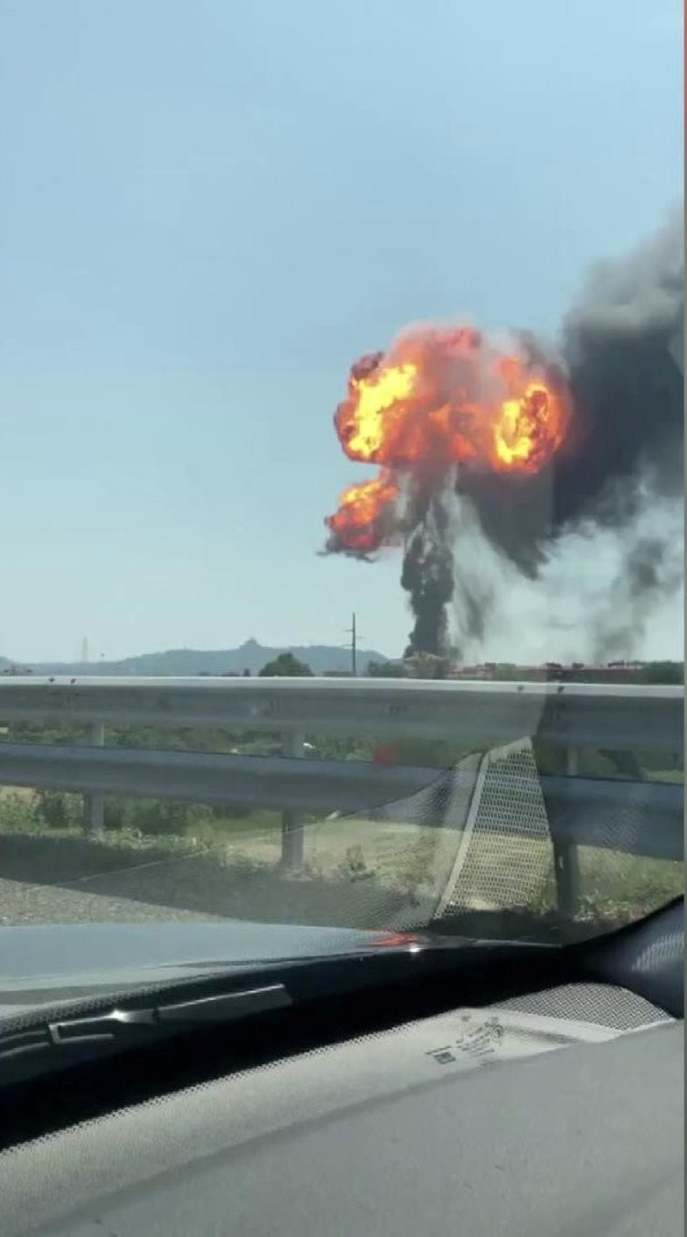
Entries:
<svg viewBox="0 0 687 1237">
<path fill-rule="evenodd" d="M 452 502 L 470 505 L 492 544 L 533 579 L 577 524 L 615 529 L 624 552 L 609 609 L 622 596 L 625 621 L 644 621 L 651 599 L 676 586 L 673 570 L 643 565 L 666 560 L 666 546 L 639 546 L 633 529 L 643 505 L 682 491 L 682 370 L 678 219 L 629 259 L 592 271 L 556 356 L 525 334 L 502 351 L 472 328 L 403 333 L 353 366 L 337 408 L 345 453 L 383 471 L 342 496 L 326 549 L 374 558 L 403 546 L 409 652 L 440 653 L 456 586 Z M 458 635 L 479 637 L 489 589 L 457 586 Z M 607 626 L 598 647 L 610 649 Z"/>
</svg>

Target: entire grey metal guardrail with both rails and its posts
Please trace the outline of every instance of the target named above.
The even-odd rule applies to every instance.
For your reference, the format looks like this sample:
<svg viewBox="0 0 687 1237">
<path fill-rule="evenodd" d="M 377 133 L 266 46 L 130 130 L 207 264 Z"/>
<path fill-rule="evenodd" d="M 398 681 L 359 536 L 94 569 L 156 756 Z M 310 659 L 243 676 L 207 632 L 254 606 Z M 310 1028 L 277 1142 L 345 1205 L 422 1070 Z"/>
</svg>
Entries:
<svg viewBox="0 0 687 1237">
<path fill-rule="evenodd" d="M 299 813 L 371 809 L 426 789 L 442 776 L 403 764 L 310 760 L 305 735 L 441 738 L 473 750 L 531 736 L 563 748 L 573 774 L 540 779 L 562 901 L 575 901 L 577 846 L 617 844 L 609 821 L 619 807 L 629 804 L 635 820 L 623 849 L 682 856 L 682 785 L 575 776 L 586 748 L 681 756 L 681 687 L 315 678 L 0 680 L 0 725 L 22 721 L 83 726 L 86 741 L 2 742 L 0 784 L 80 792 L 94 830 L 103 828 L 104 795 L 261 805 L 283 813 L 283 861 L 293 867 L 303 861 Z M 106 746 L 107 727 L 126 725 L 276 732 L 284 755 Z M 453 779 L 460 776 L 451 773 Z"/>
</svg>

